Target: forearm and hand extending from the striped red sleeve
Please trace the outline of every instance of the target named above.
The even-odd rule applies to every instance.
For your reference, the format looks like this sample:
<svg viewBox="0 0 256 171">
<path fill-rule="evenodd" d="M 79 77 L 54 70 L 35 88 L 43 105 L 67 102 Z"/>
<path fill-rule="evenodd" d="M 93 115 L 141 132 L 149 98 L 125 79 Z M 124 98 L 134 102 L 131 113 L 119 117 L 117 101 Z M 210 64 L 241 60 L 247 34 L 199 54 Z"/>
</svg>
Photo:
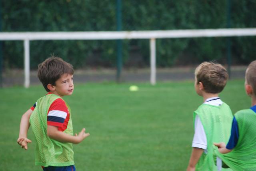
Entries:
<svg viewBox="0 0 256 171">
<path fill-rule="evenodd" d="M 56 141 L 78 144 L 88 137 L 90 133 L 85 133 L 85 128 L 83 128 L 78 135 L 75 134 L 75 136 L 73 136 L 59 131 L 56 126 L 47 125 L 47 135 Z"/>
</svg>

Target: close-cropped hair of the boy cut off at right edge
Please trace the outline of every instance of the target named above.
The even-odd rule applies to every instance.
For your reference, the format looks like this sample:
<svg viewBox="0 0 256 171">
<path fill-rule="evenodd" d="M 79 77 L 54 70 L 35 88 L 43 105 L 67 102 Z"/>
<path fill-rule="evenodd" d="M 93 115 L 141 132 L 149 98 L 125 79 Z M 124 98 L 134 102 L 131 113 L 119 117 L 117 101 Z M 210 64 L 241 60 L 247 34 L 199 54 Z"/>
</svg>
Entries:
<svg viewBox="0 0 256 171">
<path fill-rule="evenodd" d="M 254 95 L 256 95 L 256 60 L 252 61 L 245 73 L 247 84 L 252 86 Z"/>
</svg>

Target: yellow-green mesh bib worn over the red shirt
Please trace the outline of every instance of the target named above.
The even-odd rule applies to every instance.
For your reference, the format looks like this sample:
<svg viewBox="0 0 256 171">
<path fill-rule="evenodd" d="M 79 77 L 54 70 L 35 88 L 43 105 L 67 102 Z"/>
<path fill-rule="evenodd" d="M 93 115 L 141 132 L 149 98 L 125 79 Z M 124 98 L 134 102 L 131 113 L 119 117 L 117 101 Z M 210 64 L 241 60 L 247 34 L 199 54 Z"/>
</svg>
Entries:
<svg viewBox="0 0 256 171">
<path fill-rule="evenodd" d="M 36 165 L 47 166 L 69 166 L 74 165 L 74 152 L 72 143 L 61 143 L 50 139 L 47 135 L 47 112 L 52 102 L 59 97 L 55 94 L 48 94 L 38 99 L 36 107 L 32 112 L 29 122 L 36 139 L 35 158 Z M 68 104 L 66 103 L 68 106 Z M 68 127 L 64 131 L 73 135 L 73 126 L 71 119 L 68 121 Z"/>
</svg>

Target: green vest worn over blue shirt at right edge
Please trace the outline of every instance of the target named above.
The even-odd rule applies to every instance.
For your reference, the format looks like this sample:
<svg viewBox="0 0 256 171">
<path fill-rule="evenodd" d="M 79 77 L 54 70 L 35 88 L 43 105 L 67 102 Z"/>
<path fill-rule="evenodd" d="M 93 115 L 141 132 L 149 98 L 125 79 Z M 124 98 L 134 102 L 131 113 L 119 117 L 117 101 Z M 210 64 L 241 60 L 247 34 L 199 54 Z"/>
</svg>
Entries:
<svg viewBox="0 0 256 171">
<path fill-rule="evenodd" d="M 235 117 L 239 131 L 236 147 L 227 154 L 219 153 L 217 148 L 215 152 L 234 171 L 256 171 L 256 113 L 244 109 Z"/>
</svg>

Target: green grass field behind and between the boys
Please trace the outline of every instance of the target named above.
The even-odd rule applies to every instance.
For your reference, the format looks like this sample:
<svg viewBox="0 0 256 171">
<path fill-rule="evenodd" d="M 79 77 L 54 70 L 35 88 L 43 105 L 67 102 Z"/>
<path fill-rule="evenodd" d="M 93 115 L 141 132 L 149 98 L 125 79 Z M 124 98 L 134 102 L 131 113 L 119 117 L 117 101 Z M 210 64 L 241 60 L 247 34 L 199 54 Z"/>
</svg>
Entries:
<svg viewBox="0 0 256 171">
<path fill-rule="evenodd" d="M 192 113 L 203 102 L 194 82 L 136 84 L 79 84 L 64 97 L 72 109 L 74 132 L 90 136 L 74 145 L 78 171 L 183 171 L 191 153 Z M 34 164 L 34 144 L 28 151 L 16 143 L 20 117 L 46 91 L 0 89 L 0 170 L 41 171 Z M 220 94 L 233 112 L 250 107 L 243 80 L 230 80 Z M 34 140 L 32 131 L 28 137 Z"/>
</svg>

